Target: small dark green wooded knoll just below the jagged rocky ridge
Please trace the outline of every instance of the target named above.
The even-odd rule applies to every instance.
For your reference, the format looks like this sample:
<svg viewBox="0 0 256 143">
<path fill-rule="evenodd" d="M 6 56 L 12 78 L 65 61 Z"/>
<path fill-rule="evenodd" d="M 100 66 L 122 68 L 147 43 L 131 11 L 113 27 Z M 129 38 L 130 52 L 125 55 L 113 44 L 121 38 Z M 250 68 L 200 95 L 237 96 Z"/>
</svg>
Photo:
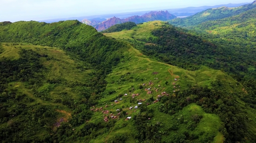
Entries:
<svg viewBox="0 0 256 143">
<path fill-rule="evenodd" d="M 112 33 L 112 32 L 119 32 L 122 30 L 131 30 L 131 28 L 137 26 L 134 22 L 125 22 L 122 24 L 117 24 L 109 27 L 108 29 L 101 31 L 101 33 Z"/>
</svg>

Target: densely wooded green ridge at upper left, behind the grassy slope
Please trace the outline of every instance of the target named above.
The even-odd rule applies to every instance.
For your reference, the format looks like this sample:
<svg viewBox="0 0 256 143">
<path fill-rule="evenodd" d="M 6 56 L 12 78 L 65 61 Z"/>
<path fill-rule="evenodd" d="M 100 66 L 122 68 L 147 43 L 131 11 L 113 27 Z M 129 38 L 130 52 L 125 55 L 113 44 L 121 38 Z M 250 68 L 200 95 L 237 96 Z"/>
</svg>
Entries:
<svg viewBox="0 0 256 143">
<path fill-rule="evenodd" d="M 92 26 L 79 21 L 60 21 L 58 23 L 15 22 L 0 23 L 0 42 L 23 42 L 41 46 L 60 47 L 80 55 L 94 66 L 103 62 L 118 62 L 119 43 L 104 37 Z M 120 57 L 119 57 L 120 58 Z M 108 64 L 106 64 L 108 65 Z M 99 67 L 102 68 L 102 67 Z"/>
</svg>

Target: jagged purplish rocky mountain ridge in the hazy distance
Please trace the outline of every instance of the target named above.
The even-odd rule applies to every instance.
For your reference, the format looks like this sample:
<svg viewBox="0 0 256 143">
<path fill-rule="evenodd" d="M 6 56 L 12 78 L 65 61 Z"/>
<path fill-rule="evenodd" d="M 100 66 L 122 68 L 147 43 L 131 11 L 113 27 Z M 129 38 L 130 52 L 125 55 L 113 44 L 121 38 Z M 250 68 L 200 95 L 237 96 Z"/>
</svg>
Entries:
<svg viewBox="0 0 256 143">
<path fill-rule="evenodd" d="M 103 31 L 113 25 L 121 24 L 121 23 L 125 23 L 125 22 L 134 22 L 136 24 L 139 24 L 139 23 L 154 21 L 154 20 L 166 21 L 166 20 L 171 20 L 171 19 L 175 19 L 175 18 L 176 18 L 176 16 L 173 14 L 170 14 L 168 11 L 159 11 L 159 12 L 152 11 L 152 12 L 148 12 L 141 16 L 135 15 L 135 16 L 128 17 L 126 19 L 120 19 L 120 18 L 113 17 L 113 18 L 107 19 L 103 22 L 100 22 L 98 24 L 95 24 L 97 21 L 90 21 L 88 19 L 83 19 L 81 22 L 84 24 L 93 26 L 98 31 Z"/>
</svg>

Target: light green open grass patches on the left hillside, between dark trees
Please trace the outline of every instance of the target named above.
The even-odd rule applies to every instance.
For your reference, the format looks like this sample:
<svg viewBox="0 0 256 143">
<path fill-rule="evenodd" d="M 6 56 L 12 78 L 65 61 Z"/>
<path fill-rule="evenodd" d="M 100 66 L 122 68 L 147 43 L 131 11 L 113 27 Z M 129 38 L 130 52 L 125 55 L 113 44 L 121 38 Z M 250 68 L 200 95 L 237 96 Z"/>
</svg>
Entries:
<svg viewBox="0 0 256 143">
<path fill-rule="evenodd" d="M 66 52 L 58 48 L 32 45 L 26 43 L 2 43 L 2 46 L 4 51 L 0 54 L 0 58 L 6 57 L 10 59 L 18 59 L 20 49 L 31 49 L 36 51 L 40 55 L 48 55 L 48 60 L 46 58 L 40 58 L 41 63 L 47 69 L 43 71 L 43 75 L 45 75 L 43 85 L 37 88 L 37 91 L 43 92 L 51 89 L 49 96 L 52 99 L 61 99 L 62 96 L 59 93 L 63 91 L 67 92 L 67 94 L 72 96 L 74 99 L 77 98 L 78 95 L 74 92 L 74 90 L 72 91 L 71 88 L 67 85 L 62 85 L 61 87 L 52 87 L 49 83 L 46 82 L 47 80 L 59 78 L 64 79 L 67 82 L 78 81 L 86 83 L 88 74 L 93 71 L 91 69 L 85 70 L 85 68 L 87 68 L 85 67 L 85 65 L 88 64 L 81 62 L 75 58 L 72 58 Z M 42 105 L 53 105 L 65 108 L 65 106 L 63 106 L 60 103 L 53 103 L 52 101 L 45 101 L 40 98 L 34 97 L 31 89 L 27 88 L 26 85 L 24 85 L 24 83 L 22 82 L 9 83 L 8 89 L 11 88 L 16 88 L 21 93 L 26 93 L 30 98 L 34 99 L 34 102 L 29 103 L 29 105 L 40 103 Z"/>
</svg>

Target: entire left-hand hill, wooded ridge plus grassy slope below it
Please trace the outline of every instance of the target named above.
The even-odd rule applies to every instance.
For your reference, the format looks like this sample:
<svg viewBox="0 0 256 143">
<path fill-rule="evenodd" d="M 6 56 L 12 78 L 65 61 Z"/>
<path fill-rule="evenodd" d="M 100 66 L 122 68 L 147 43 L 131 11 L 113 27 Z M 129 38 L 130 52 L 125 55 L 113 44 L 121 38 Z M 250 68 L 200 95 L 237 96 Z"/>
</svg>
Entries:
<svg viewBox="0 0 256 143">
<path fill-rule="evenodd" d="M 106 75 L 127 50 L 78 21 L 2 22 L 0 42 L 12 42 L 0 45 L 0 140 L 7 143 L 64 141 L 57 127 L 91 118 Z"/>
</svg>

